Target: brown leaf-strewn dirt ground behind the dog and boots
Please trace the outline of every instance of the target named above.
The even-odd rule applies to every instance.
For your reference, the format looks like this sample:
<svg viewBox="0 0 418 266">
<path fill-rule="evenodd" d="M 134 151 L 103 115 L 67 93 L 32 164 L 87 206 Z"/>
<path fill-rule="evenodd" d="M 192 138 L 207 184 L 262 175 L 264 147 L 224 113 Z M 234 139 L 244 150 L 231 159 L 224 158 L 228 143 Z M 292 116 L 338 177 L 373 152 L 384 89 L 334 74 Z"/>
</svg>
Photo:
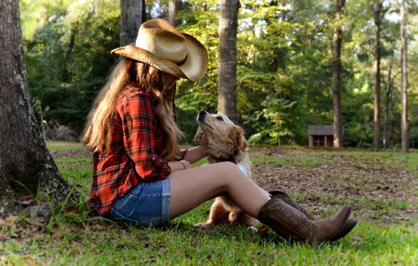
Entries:
<svg viewBox="0 0 418 266">
<path fill-rule="evenodd" d="M 332 151 L 335 152 L 334 150 Z M 418 218 L 418 174 L 403 165 L 388 166 L 387 158 L 330 155 L 309 149 L 252 148 L 257 158 L 255 179 L 265 190 L 281 190 L 310 211 L 323 216 L 351 204 L 360 221 L 411 221 Z M 54 158 L 91 156 L 88 151 L 53 151 Z M 288 163 L 288 160 L 293 163 Z M 312 164 L 304 164 L 311 162 Z M 283 163 L 282 163 L 283 162 Z"/>
</svg>

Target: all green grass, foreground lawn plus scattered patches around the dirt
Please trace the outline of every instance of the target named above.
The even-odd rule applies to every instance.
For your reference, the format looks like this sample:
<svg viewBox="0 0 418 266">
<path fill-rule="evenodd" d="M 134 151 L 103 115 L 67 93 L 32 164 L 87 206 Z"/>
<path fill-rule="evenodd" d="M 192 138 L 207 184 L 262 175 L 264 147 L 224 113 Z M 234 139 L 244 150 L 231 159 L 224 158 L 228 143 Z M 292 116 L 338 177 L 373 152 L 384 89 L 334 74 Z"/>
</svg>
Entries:
<svg viewBox="0 0 418 266">
<path fill-rule="evenodd" d="M 67 146 L 53 146 L 64 151 Z M 79 148 L 79 146 L 76 146 Z M 48 145 L 50 148 L 50 145 Z M 73 147 L 74 148 L 74 147 Z M 310 153 L 312 154 L 312 153 Z M 321 153 L 324 155 L 324 153 Z M 328 153 L 326 154 L 328 155 Z M 336 153 L 335 155 L 342 155 Z M 379 158 L 386 155 L 347 153 L 343 156 Z M 406 160 L 393 154 L 394 160 Z M 412 158 L 412 159 L 411 159 Z M 417 160 L 415 155 L 407 163 Z M 165 228 L 137 228 L 116 225 L 88 214 L 86 200 L 90 188 L 92 158 L 55 158 L 64 178 L 81 188 L 83 198 L 78 211 L 55 208 L 49 223 L 27 225 L 27 219 L 0 225 L 0 265 L 417 265 L 418 221 L 382 223 L 377 219 L 360 221 L 356 229 L 335 244 L 302 245 L 289 243 L 275 233 L 252 234 L 245 228 L 224 225 L 203 232 L 194 223 L 208 217 L 210 203 L 170 222 Z M 252 155 L 254 164 L 269 162 L 309 168 L 327 163 L 325 156 L 278 159 Z M 194 166 L 203 165 L 205 160 Z M 388 167 L 390 164 L 388 163 Z M 393 165 L 396 167 L 396 165 Z M 337 197 L 292 195 L 333 204 L 327 213 L 335 212 L 342 202 Z M 368 200 L 357 198 L 344 203 L 396 215 L 409 208 L 403 200 Z M 353 212 L 353 216 L 356 211 Z M 379 217 L 379 216 L 377 216 Z"/>
</svg>

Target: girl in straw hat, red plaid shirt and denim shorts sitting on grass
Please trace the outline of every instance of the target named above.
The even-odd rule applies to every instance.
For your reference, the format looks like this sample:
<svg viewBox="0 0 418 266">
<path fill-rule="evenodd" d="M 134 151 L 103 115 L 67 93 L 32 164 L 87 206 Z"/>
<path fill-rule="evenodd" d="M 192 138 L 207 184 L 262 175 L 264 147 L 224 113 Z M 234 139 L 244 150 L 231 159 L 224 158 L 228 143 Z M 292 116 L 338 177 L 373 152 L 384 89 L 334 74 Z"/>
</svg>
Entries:
<svg viewBox="0 0 418 266">
<path fill-rule="evenodd" d="M 234 163 L 191 166 L 208 154 L 205 146 L 179 151 L 182 132 L 173 106 L 176 81 L 199 80 L 207 71 L 208 55 L 196 38 L 166 20 L 149 20 L 135 45 L 112 54 L 122 57 L 97 95 L 83 135 L 94 153 L 90 206 L 98 214 L 160 225 L 229 195 L 246 214 L 299 241 L 329 241 L 352 229 L 346 223 L 349 206 L 328 219 L 311 220 L 299 205 L 271 197 Z"/>
</svg>

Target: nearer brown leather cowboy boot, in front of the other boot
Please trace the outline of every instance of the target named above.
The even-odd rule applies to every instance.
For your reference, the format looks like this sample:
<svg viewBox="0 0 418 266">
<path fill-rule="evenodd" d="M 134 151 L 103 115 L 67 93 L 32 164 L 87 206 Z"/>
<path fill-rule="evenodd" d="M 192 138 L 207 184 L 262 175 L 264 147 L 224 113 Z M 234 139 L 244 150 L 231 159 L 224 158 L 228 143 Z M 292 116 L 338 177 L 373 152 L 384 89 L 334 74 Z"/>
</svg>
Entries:
<svg viewBox="0 0 418 266">
<path fill-rule="evenodd" d="M 302 212 L 273 197 L 260 210 L 257 219 L 278 235 L 287 235 L 297 241 L 321 243 L 335 237 L 349 218 L 351 206 L 345 205 L 328 219 L 311 221 Z"/>
</svg>

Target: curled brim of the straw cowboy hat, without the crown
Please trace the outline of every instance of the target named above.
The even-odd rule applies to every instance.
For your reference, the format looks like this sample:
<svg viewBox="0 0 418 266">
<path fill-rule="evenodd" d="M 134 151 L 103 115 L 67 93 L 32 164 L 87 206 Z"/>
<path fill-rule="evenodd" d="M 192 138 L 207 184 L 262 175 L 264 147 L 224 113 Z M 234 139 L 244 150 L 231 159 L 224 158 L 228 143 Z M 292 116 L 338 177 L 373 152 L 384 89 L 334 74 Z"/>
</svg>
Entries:
<svg viewBox="0 0 418 266">
<path fill-rule="evenodd" d="M 184 33 L 183 33 L 184 34 Z M 187 58 L 184 64 L 177 64 L 155 55 L 149 50 L 136 47 L 135 43 L 112 50 L 112 55 L 122 55 L 170 73 L 180 78 L 187 78 L 192 81 L 199 80 L 208 71 L 208 52 L 205 47 L 193 36 L 184 34 L 187 46 Z"/>
</svg>

